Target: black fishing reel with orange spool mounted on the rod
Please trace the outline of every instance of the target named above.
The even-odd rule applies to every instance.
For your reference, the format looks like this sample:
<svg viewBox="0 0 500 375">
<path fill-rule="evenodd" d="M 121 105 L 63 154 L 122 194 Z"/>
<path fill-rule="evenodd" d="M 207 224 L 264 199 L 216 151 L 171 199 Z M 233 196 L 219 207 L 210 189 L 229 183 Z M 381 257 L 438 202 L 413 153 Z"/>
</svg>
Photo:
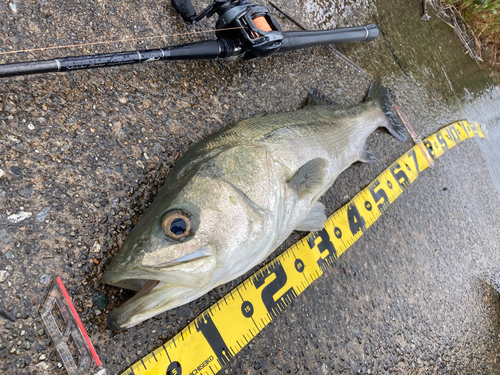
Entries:
<svg viewBox="0 0 500 375">
<path fill-rule="evenodd" d="M 246 60 L 265 57 L 279 50 L 283 42 L 281 28 L 267 8 L 248 0 L 215 0 L 196 14 L 190 0 L 172 0 L 174 9 L 187 23 L 195 23 L 217 13 L 218 39 L 233 41 L 233 54 L 246 51 Z"/>
</svg>

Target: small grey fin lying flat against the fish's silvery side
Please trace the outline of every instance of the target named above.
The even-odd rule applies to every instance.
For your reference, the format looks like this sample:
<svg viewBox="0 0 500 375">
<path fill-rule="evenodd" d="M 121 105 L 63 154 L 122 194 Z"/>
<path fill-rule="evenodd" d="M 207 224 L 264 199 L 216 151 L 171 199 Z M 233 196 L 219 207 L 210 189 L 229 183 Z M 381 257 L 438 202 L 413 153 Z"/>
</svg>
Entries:
<svg viewBox="0 0 500 375">
<path fill-rule="evenodd" d="M 288 183 L 295 188 L 299 199 L 302 199 L 315 195 L 324 186 L 327 175 L 328 161 L 317 158 L 300 167 Z"/>
</svg>

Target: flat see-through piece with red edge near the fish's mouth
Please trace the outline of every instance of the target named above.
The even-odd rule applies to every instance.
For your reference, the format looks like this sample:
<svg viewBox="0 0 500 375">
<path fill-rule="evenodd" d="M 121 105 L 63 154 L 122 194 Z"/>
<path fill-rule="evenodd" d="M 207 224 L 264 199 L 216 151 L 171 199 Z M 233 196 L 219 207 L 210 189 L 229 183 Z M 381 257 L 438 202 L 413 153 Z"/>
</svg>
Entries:
<svg viewBox="0 0 500 375">
<path fill-rule="evenodd" d="M 93 373 L 95 365 L 101 365 L 60 277 L 53 283 L 40 315 L 69 375 Z M 101 369 L 97 375 L 105 373 Z"/>
</svg>

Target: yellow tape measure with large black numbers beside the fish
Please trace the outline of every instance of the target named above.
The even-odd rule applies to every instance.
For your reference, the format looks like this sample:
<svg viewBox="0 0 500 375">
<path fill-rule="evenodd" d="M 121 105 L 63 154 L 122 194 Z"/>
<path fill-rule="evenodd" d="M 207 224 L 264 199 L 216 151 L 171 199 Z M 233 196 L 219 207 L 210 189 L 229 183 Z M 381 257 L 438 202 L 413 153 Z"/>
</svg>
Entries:
<svg viewBox="0 0 500 375">
<path fill-rule="evenodd" d="M 204 311 L 173 339 L 122 375 L 213 375 L 323 274 L 418 175 L 457 143 L 484 133 L 455 122 L 397 159 L 348 204 Z"/>
</svg>

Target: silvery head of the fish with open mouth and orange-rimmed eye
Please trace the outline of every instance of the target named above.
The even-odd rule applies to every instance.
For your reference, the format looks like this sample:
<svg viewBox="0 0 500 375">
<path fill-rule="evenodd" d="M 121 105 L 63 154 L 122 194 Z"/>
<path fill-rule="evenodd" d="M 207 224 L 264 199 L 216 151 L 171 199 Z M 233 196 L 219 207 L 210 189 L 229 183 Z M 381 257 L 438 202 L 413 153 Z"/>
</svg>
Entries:
<svg viewBox="0 0 500 375">
<path fill-rule="evenodd" d="M 113 330 L 205 294 L 255 258 L 264 215 L 235 186 L 204 171 L 173 190 L 167 180 L 104 273 L 106 283 L 138 291 L 108 316 Z"/>
</svg>

